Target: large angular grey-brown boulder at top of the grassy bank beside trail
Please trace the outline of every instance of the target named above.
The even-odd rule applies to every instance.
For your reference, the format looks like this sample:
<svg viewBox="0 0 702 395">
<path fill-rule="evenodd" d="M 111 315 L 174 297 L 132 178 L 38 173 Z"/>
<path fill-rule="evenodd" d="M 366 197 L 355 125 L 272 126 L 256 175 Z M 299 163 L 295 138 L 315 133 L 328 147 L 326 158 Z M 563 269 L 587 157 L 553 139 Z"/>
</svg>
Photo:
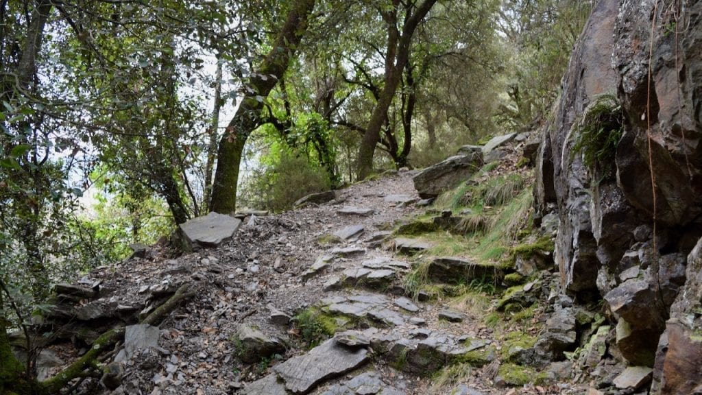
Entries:
<svg viewBox="0 0 702 395">
<path fill-rule="evenodd" d="M 420 171 L 414 176 L 414 188 L 420 197 L 437 197 L 467 180 L 482 166 L 482 153 L 474 151 L 469 155 L 456 155 Z"/>
</svg>

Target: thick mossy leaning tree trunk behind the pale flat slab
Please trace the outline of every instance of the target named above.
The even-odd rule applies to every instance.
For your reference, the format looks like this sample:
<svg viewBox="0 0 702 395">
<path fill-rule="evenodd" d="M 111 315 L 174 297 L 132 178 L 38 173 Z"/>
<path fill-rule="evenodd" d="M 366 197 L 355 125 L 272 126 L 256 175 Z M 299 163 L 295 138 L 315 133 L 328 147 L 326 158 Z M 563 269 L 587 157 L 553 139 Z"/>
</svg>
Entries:
<svg viewBox="0 0 702 395">
<path fill-rule="evenodd" d="M 307 18 L 313 8 L 314 0 L 298 0 L 293 4 L 272 49 L 258 70 L 251 73 L 249 86 L 244 90 L 244 101 L 219 143 L 210 211 L 229 214 L 237 209 L 239 166 L 246 139 L 260 125 L 263 98 L 288 69 L 290 59 L 307 30 Z"/>
</svg>

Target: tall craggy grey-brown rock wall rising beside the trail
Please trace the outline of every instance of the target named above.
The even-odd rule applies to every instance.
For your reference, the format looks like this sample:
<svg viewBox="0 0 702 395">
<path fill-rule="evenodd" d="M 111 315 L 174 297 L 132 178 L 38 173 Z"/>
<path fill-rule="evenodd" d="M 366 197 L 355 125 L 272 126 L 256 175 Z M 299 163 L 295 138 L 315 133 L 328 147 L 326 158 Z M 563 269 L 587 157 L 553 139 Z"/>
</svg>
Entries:
<svg viewBox="0 0 702 395">
<path fill-rule="evenodd" d="M 702 382 L 692 329 L 702 267 L 690 267 L 702 236 L 702 3 L 676 4 L 597 2 L 536 157 L 536 216 L 557 213 L 562 291 L 604 298 L 612 355 L 656 359 L 654 394 Z M 605 115 L 619 119 L 607 131 L 621 138 L 604 148 L 611 159 L 590 164 L 585 156 L 604 145 L 578 142 Z M 658 344 L 664 330 L 672 358 Z"/>
</svg>

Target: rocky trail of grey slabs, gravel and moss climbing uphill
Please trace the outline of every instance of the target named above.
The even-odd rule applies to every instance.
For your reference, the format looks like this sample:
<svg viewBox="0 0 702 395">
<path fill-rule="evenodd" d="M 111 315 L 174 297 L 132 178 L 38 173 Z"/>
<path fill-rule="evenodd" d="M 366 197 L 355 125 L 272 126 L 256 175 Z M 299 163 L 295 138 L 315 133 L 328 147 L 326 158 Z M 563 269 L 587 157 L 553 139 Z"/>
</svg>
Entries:
<svg viewBox="0 0 702 395">
<path fill-rule="evenodd" d="M 496 157 L 494 174 L 517 171 L 516 150 Z M 173 242 L 134 246 L 130 259 L 59 285 L 39 377 L 84 354 L 102 332 L 127 325 L 124 342 L 101 359 L 107 373 L 78 384 L 77 393 L 583 393 L 585 384 L 568 382 L 572 364 L 550 363 L 548 355 L 576 341 L 572 301 L 561 296 L 555 311 L 534 310 L 538 299 L 555 297 L 552 264 L 531 270 L 531 282 L 500 299 L 494 289 L 505 273 L 496 263 L 478 264 L 465 252 L 433 256 L 449 231 L 432 240 L 398 229 L 425 224 L 416 222 L 421 216 L 435 224 L 456 217 L 420 198 L 416 174 L 384 174 L 279 215 L 209 214 L 181 226 Z M 174 245 L 194 252 L 178 256 Z M 412 278 L 426 287 L 412 286 Z M 432 283 L 473 296 L 427 292 Z M 187 293 L 160 325 L 140 323 L 174 292 Z M 508 304 L 529 315 L 508 314 L 499 330 L 486 324 Z M 540 343 L 524 344 L 525 333 Z M 520 366 L 535 364 L 543 368 L 538 377 Z"/>
</svg>

